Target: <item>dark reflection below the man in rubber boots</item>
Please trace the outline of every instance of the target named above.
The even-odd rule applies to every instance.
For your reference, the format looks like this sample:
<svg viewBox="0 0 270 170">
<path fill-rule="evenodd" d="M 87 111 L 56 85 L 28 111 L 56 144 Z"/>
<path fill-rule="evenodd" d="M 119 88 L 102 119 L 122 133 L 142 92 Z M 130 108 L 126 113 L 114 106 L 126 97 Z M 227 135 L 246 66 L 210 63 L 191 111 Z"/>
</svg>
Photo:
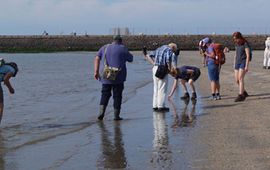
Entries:
<svg viewBox="0 0 270 170">
<path fill-rule="evenodd" d="M 121 124 L 114 125 L 114 135 L 107 130 L 103 122 L 99 122 L 101 130 L 101 155 L 97 162 L 99 169 L 121 169 L 127 167 Z"/>
</svg>

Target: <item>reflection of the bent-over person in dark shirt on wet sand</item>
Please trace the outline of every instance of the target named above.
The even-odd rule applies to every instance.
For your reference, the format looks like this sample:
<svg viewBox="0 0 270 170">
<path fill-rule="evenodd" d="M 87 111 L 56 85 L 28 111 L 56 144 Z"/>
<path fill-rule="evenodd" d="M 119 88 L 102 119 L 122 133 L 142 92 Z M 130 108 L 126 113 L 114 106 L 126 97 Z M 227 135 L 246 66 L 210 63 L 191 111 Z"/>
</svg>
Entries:
<svg viewBox="0 0 270 170">
<path fill-rule="evenodd" d="M 190 100 L 183 100 L 184 103 L 184 108 L 181 111 L 181 113 L 178 115 L 175 103 L 170 100 L 169 103 L 172 106 L 172 111 L 174 115 L 174 122 L 173 125 L 171 126 L 172 128 L 177 128 L 177 127 L 190 127 L 194 125 L 194 120 L 195 120 L 195 112 L 196 112 L 196 100 L 192 100 L 192 107 L 191 110 L 188 109 L 188 105 L 190 103 Z"/>
</svg>

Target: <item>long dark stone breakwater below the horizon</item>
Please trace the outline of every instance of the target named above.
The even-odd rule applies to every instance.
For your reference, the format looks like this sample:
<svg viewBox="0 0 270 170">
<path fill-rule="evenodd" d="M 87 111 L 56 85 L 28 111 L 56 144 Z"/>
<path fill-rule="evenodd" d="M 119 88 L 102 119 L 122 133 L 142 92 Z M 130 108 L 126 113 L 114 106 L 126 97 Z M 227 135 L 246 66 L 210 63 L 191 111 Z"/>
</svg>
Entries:
<svg viewBox="0 0 270 170">
<path fill-rule="evenodd" d="M 254 50 L 263 50 L 268 35 L 244 35 Z M 197 50 L 198 42 L 210 37 L 215 42 L 234 49 L 231 35 L 138 35 L 123 36 L 124 44 L 131 51 L 146 46 L 153 50 L 160 45 L 175 42 L 181 50 Z M 112 36 L 0 36 L 0 52 L 52 52 L 97 51 L 112 42 Z"/>
</svg>

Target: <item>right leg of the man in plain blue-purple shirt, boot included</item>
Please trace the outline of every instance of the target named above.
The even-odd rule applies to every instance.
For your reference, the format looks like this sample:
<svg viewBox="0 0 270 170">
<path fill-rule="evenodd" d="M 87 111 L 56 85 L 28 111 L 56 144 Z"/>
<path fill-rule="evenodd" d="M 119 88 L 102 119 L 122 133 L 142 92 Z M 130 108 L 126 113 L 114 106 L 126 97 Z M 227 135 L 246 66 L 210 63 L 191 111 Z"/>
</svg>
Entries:
<svg viewBox="0 0 270 170">
<path fill-rule="evenodd" d="M 113 107 L 114 107 L 114 120 L 122 120 L 120 117 L 122 93 L 124 90 L 124 83 L 113 85 Z"/>
</svg>

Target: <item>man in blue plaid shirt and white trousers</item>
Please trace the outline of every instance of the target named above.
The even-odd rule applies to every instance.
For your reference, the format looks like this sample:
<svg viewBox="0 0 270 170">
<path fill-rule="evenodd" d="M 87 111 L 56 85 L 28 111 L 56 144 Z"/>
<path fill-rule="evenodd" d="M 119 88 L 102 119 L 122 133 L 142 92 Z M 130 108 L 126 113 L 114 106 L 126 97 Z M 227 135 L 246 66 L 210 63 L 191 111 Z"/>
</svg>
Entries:
<svg viewBox="0 0 270 170">
<path fill-rule="evenodd" d="M 148 55 L 146 50 L 143 51 L 144 57 L 153 65 L 153 110 L 154 111 L 169 111 L 169 108 L 165 106 L 166 93 L 168 88 L 168 74 L 165 74 L 164 78 L 158 78 L 156 72 L 158 67 L 163 65 L 170 70 L 177 65 L 177 56 L 179 55 L 179 49 L 175 43 L 169 45 L 163 45 L 156 49 L 152 54 Z"/>
</svg>

